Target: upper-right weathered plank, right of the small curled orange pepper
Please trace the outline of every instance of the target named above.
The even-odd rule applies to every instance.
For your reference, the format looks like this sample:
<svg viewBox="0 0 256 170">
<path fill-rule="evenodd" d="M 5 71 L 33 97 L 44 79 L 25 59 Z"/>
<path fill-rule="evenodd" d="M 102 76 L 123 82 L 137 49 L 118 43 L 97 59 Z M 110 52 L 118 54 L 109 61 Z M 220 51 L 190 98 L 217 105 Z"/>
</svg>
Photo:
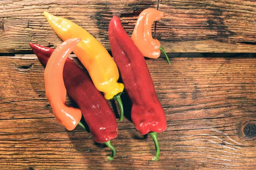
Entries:
<svg viewBox="0 0 256 170">
<path fill-rule="evenodd" d="M 160 0 L 155 37 L 168 52 L 255 52 L 256 2 Z"/>
</svg>

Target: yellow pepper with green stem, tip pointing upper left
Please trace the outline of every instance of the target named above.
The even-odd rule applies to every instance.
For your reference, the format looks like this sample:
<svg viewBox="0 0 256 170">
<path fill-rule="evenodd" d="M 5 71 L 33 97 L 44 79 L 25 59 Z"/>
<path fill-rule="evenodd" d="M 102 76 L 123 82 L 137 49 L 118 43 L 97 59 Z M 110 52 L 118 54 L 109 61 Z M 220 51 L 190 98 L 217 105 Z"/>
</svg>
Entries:
<svg viewBox="0 0 256 170">
<path fill-rule="evenodd" d="M 44 12 L 49 25 L 62 39 L 80 37 L 73 52 L 87 69 L 93 84 L 105 94 L 106 99 L 116 99 L 120 108 L 120 118 L 123 118 L 123 106 L 120 95 L 124 89 L 122 83 L 118 83 L 119 71 L 108 51 L 86 30 L 62 17 L 56 17 Z"/>
</svg>

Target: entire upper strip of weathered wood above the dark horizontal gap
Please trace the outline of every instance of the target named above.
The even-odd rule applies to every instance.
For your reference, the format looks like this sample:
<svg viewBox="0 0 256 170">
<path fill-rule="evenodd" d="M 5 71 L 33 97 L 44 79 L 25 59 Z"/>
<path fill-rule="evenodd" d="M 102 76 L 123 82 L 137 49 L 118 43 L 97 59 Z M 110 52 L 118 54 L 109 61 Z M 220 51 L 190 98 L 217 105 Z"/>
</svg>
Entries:
<svg viewBox="0 0 256 170">
<path fill-rule="evenodd" d="M 255 0 L 1 0 L 0 53 L 31 53 L 29 42 L 60 44 L 44 11 L 79 24 L 109 50 L 111 17 L 131 35 L 148 7 L 165 13 L 152 30 L 166 52 L 256 52 Z"/>
</svg>

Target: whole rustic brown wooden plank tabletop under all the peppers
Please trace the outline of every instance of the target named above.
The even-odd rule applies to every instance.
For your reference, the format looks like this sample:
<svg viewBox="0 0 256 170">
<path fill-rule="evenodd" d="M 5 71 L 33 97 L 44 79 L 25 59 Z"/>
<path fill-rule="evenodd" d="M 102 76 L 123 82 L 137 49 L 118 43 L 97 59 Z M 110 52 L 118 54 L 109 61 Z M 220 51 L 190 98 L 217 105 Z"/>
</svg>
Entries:
<svg viewBox="0 0 256 170">
<path fill-rule="evenodd" d="M 131 35 L 148 7 L 165 12 L 153 35 L 167 52 L 256 52 L 253 0 L 2 0 L 0 1 L 0 169 L 249 170 L 256 169 L 256 58 L 146 59 L 167 118 L 154 144 L 140 135 L 122 96 L 125 118 L 112 140 L 113 161 L 104 144 L 81 127 L 67 131 L 45 96 L 44 66 L 28 43 L 56 47 L 61 40 L 43 16 L 66 17 L 109 50 L 108 23 L 121 18 Z M 77 58 L 72 58 L 80 66 Z M 69 106 L 76 105 L 67 97 Z M 109 102 L 116 111 L 116 104 Z M 118 110 L 116 111 L 118 112 Z"/>
</svg>

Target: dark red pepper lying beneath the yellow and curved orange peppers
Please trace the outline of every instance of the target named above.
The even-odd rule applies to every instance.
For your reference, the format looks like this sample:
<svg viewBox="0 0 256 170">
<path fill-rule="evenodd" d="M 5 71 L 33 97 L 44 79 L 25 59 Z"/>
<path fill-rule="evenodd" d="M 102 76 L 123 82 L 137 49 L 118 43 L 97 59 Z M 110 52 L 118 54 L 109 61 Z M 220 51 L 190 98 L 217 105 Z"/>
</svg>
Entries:
<svg viewBox="0 0 256 170">
<path fill-rule="evenodd" d="M 29 45 L 38 59 L 46 66 L 54 49 L 33 43 Z M 113 149 L 112 156 L 108 157 L 112 160 L 115 156 L 115 148 L 110 140 L 116 138 L 118 128 L 115 114 L 109 107 L 108 101 L 96 89 L 89 76 L 69 58 L 64 64 L 63 80 L 68 94 L 81 109 L 94 140 L 99 143 L 104 142 Z"/>
</svg>

